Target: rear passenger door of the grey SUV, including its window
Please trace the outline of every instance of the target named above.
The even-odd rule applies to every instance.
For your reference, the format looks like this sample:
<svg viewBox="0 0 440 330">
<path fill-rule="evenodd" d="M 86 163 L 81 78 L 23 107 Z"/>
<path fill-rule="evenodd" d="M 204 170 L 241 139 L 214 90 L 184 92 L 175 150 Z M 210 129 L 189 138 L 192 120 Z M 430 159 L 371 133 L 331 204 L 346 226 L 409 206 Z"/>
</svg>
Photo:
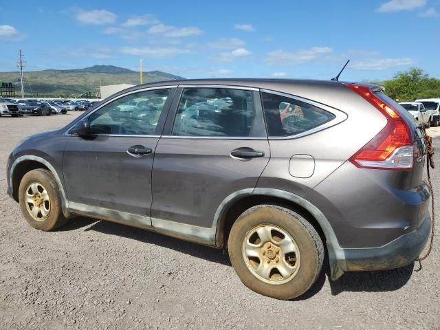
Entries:
<svg viewBox="0 0 440 330">
<path fill-rule="evenodd" d="M 220 203 L 252 191 L 270 159 L 257 89 L 179 88 L 153 166 L 151 219 L 210 228 Z"/>
</svg>

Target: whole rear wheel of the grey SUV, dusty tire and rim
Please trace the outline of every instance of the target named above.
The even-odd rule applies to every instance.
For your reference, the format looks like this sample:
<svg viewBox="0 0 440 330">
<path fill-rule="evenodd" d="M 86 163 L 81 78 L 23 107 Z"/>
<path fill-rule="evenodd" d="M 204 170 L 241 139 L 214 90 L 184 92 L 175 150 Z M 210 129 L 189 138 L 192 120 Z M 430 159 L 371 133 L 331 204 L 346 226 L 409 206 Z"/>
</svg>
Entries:
<svg viewBox="0 0 440 330">
<path fill-rule="evenodd" d="M 277 299 L 301 296 L 318 278 L 324 246 L 300 214 L 276 205 L 243 212 L 232 225 L 228 252 L 241 281 Z"/>
</svg>

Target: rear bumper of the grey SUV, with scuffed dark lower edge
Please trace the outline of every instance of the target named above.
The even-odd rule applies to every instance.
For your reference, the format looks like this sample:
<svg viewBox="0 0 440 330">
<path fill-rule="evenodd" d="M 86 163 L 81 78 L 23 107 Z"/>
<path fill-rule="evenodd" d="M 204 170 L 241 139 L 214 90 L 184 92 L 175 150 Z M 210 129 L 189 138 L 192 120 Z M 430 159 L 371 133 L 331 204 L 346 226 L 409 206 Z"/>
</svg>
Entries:
<svg viewBox="0 0 440 330">
<path fill-rule="evenodd" d="M 404 267 L 415 261 L 421 254 L 430 231 L 431 219 L 428 215 L 416 230 L 378 248 L 347 248 L 334 253 L 334 248 L 329 246 L 331 279 L 333 281 L 338 279 L 344 272 L 391 270 Z"/>
</svg>

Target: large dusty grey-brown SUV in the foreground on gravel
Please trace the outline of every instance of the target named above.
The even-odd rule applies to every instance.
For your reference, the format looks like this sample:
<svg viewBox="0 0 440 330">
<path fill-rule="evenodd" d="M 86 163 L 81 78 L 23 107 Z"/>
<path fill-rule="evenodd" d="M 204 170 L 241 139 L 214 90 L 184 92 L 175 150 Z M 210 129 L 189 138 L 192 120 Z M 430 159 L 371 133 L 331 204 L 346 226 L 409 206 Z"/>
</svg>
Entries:
<svg viewBox="0 0 440 330">
<path fill-rule="evenodd" d="M 143 116 L 109 115 L 158 98 Z M 193 109 L 203 102 L 216 107 Z M 79 214 L 227 248 L 246 286 L 290 299 L 326 258 L 334 281 L 419 256 L 431 228 L 425 162 L 423 131 L 381 87 L 181 80 L 126 89 L 29 137 L 7 180 L 34 228 Z"/>
</svg>

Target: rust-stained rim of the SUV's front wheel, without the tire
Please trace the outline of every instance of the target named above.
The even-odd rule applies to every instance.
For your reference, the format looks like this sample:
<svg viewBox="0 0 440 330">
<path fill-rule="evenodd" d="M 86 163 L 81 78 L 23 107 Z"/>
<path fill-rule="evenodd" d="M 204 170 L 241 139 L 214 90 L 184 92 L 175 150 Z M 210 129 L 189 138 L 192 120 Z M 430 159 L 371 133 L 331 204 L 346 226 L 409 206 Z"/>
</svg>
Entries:
<svg viewBox="0 0 440 330">
<path fill-rule="evenodd" d="M 50 199 L 46 188 L 39 182 L 31 182 L 26 188 L 26 208 L 35 221 L 45 221 L 50 214 Z"/>
</svg>

